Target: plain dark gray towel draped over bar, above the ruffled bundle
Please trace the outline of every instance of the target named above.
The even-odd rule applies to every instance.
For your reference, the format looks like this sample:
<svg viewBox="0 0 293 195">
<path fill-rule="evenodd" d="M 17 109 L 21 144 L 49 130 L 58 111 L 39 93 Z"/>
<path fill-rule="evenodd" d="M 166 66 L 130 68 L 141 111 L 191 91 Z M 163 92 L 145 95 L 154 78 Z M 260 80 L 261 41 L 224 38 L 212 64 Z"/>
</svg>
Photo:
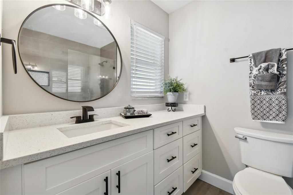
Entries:
<svg viewBox="0 0 293 195">
<path fill-rule="evenodd" d="M 253 58 L 254 66 L 258 67 L 258 65 L 263 63 L 268 63 L 268 62 L 273 62 L 278 64 L 280 50 L 281 48 L 269 49 L 262 52 L 256 52 L 251 54 Z"/>
</svg>

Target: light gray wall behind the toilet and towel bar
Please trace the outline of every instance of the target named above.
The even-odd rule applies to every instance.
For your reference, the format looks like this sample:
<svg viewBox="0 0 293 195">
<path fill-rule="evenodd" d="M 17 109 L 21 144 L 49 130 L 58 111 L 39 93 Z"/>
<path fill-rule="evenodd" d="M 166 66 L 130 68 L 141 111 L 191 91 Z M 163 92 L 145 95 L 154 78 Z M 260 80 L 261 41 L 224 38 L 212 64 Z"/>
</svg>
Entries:
<svg viewBox="0 0 293 195">
<path fill-rule="evenodd" d="M 244 168 L 234 127 L 293 133 L 293 51 L 287 54 L 286 124 L 251 120 L 248 61 L 229 63 L 252 52 L 292 48 L 292 14 L 293 1 L 194 1 L 169 15 L 169 72 L 190 92 L 188 102 L 182 94 L 178 99 L 206 105 L 204 170 L 233 180 Z"/>
</svg>

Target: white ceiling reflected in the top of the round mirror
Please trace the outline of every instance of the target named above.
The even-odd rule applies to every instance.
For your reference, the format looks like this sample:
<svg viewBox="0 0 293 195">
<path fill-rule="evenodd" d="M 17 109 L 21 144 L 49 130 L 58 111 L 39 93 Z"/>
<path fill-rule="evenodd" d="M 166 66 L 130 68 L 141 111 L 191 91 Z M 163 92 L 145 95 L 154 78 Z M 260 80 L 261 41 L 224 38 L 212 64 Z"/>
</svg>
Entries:
<svg viewBox="0 0 293 195">
<path fill-rule="evenodd" d="M 79 19 L 74 16 L 74 8 L 69 6 L 64 11 L 51 6 L 40 9 L 26 20 L 23 27 L 97 48 L 114 41 L 108 30 L 93 23 L 91 15 Z"/>
</svg>

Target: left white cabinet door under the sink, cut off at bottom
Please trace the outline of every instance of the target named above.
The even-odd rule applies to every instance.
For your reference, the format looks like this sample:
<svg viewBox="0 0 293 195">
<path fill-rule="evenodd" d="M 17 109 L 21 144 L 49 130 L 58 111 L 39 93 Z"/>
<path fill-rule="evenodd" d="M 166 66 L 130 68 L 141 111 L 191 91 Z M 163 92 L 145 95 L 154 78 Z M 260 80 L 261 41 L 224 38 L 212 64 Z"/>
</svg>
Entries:
<svg viewBox="0 0 293 195">
<path fill-rule="evenodd" d="M 57 195 L 110 195 L 110 190 L 111 171 L 107 171 Z"/>
</svg>

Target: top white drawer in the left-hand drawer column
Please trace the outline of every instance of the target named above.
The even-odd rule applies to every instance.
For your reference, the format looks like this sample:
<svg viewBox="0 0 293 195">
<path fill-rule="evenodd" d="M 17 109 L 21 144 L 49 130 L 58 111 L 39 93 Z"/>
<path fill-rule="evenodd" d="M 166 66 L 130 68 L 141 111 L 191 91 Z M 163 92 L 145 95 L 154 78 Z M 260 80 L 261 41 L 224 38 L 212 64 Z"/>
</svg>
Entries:
<svg viewBox="0 0 293 195">
<path fill-rule="evenodd" d="M 182 121 L 154 129 L 154 149 L 182 137 Z"/>
</svg>

